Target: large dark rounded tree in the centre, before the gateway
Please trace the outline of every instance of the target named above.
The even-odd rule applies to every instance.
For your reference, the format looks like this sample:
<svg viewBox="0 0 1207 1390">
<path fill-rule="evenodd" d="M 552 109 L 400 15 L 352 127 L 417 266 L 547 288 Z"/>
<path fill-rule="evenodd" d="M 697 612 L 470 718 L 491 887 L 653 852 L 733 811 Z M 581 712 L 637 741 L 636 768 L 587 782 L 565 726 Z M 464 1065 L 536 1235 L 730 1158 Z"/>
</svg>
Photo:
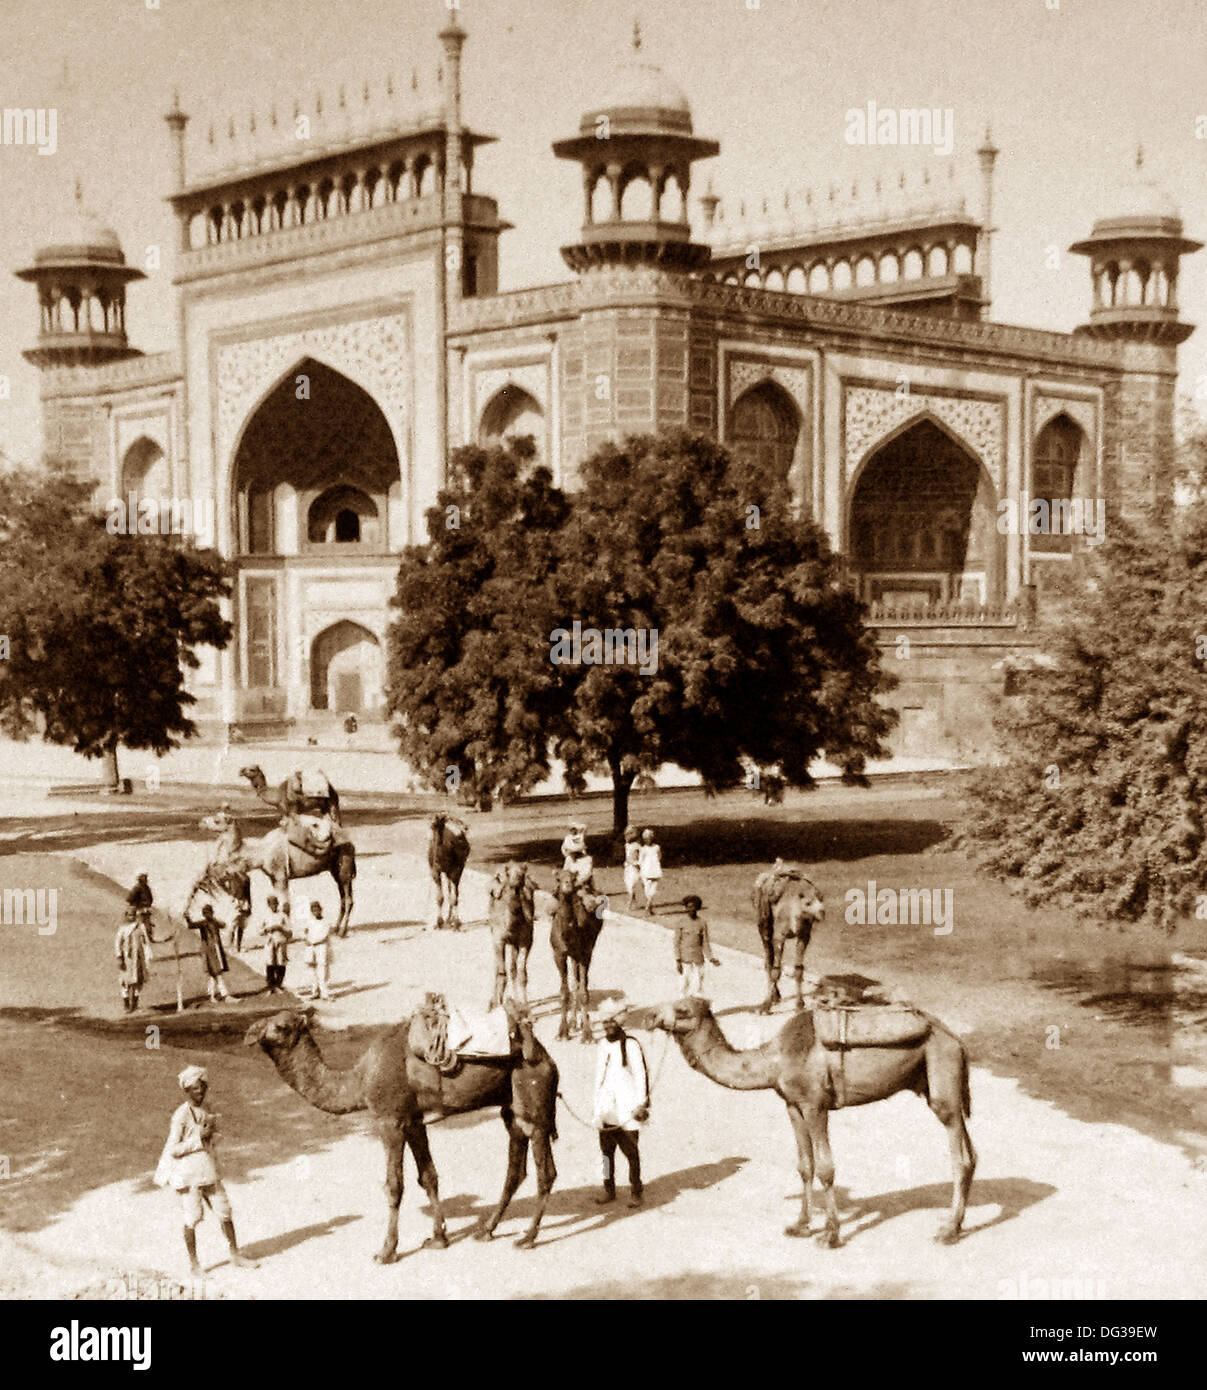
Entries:
<svg viewBox="0 0 1207 1390">
<path fill-rule="evenodd" d="M 572 787 L 606 771 L 617 833 L 634 778 L 667 762 L 712 785 L 779 767 L 811 787 L 825 752 L 864 780 L 890 681 L 781 484 L 687 434 L 605 446 L 572 498 L 546 470 L 517 484 L 508 455 L 462 452 L 467 482 L 441 503 L 469 527 L 463 512 L 449 537 L 430 513 L 403 562 L 389 702 L 405 755 L 431 769 L 456 748 L 513 785 L 546 776 L 551 752 Z"/>
</svg>

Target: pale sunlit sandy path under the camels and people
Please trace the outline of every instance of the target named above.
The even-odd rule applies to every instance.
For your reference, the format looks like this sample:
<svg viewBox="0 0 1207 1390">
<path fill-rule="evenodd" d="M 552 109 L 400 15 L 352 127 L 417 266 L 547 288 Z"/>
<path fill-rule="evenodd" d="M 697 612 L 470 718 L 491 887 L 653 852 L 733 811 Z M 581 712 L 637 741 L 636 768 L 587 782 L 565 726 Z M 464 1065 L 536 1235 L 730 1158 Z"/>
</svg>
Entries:
<svg viewBox="0 0 1207 1390">
<path fill-rule="evenodd" d="M 489 991 L 485 880 L 467 874 L 463 933 L 424 930 L 432 908 L 426 866 L 395 852 L 396 838 L 373 831 L 359 845 L 355 927 L 338 942 L 334 970 L 341 997 L 320 1005 L 318 1015 L 332 1031 L 394 1022 L 423 988 L 446 990 L 471 1006 L 483 1005 Z M 175 884 L 195 872 L 197 853 L 195 844 L 127 841 L 79 858 L 122 884 L 142 869 L 154 883 Z M 305 906 L 306 887 L 299 890 Z M 334 887 L 324 883 L 317 892 L 334 906 Z M 723 965 L 708 981 L 715 1008 L 731 1041 L 751 1045 L 777 1026 L 748 1012 L 761 997 L 761 970 L 740 952 L 720 948 L 719 955 Z M 259 969 L 256 951 L 245 959 Z M 292 965 L 291 984 L 302 983 L 303 973 L 300 963 Z M 555 987 L 541 922 L 530 995 L 549 1001 Z M 666 933 L 610 920 L 592 987 L 597 1002 L 606 995 L 637 1005 L 672 997 L 677 976 Z M 594 1048 L 552 1040 L 551 1002 L 538 1015 L 538 1033 L 562 1069 L 562 1090 L 578 1115 L 588 1115 Z M 642 1211 L 594 1205 L 597 1138 L 563 1108 L 559 1179 L 538 1247 L 515 1245 L 531 1211 L 531 1177 L 494 1243 L 462 1238 L 494 1204 L 506 1156 L 496 1115 L 462 1118 L 431 1130 L 452 1248 L 419 1248 L 430 1219 L 409 1169 L 403 1258 L 381 1268 L 371 1261 L 384 1222 L 381 1154 L 362 1119 L 349 1116 L 334 1122 L 341 1137 L 317 1152 L 252 1169 L 248 1180 L 229 1186 L 243 1244 L 261 1265 L 232 1269 L 209 1222 L 200 1234 L 210 1266 L 206 1295 L 1193 1298 L 1207 1290 L 1207 1179 L 1179 1150 L 1119 1125 L 1072 1119 L 980 1069 L 972 1081 L 980 1165 L 959 1244 L 932 1240 L 950 1195 L 947 1143 L 914 1095 L 833 1118 L 843 1247 L 786 1238 L 798 1179 L 781 1101 L 772 1093 L 724 1091 L 692 1073 L 665 1036 L 641 1037 L 654 1074 Z M 267 1059 L 263 1070 L 266 1094 L 284 1086 Z M 238 1148 L 241 1138 L 248 1136 L 228 1133 L 225 1144 Z M 175 1200 L 145 1187 L 99 1187 L 36 1234 L 0 1237 L 0 1269 L 7 1270 L 0 1293 L 97 1291 L 106 1279 L 138 1270 L 179 1277 Z"/>
</svg>

